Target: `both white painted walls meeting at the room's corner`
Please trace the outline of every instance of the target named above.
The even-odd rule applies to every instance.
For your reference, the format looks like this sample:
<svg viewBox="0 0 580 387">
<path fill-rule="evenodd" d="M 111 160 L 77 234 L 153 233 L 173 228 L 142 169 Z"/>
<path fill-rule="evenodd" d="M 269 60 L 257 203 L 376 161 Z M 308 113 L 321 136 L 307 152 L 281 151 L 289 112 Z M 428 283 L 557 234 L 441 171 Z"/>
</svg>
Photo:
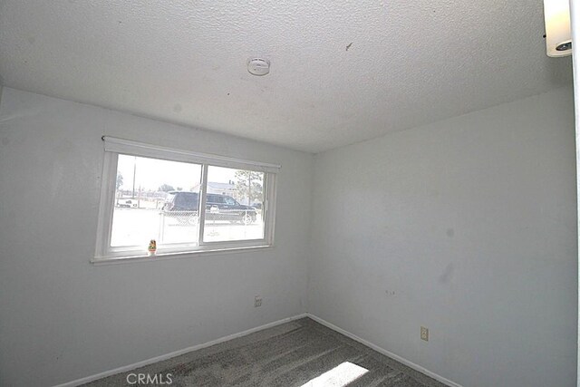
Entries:
<svg viewBox="0 0 580 387">
<path fill-rule="evenodd" d="M 313 163 L 5 88 L 0 384 L 68 382 L 300 314 L 308 301 L 466 387 L 575 385 L 573 115 L 571 89 L 558 89 Z M 102 134 L 282 164 L 276 247 L 90 265 Z"/>
</svg>

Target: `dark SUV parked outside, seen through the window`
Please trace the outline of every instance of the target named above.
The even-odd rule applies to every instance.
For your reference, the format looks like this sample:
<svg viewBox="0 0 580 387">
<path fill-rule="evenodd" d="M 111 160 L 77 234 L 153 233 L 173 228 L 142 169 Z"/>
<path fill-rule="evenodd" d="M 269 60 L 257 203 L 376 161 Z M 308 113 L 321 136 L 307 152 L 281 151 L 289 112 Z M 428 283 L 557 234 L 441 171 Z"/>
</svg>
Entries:
<svg viewBox="0 0 580 387">
<path fill-rule="evenodd" d="M 196 225 L 198 217 L 199 194 L 189 191 L 169 191 L 162 211 L 174 216 L 181 223 Z M 208 194 L 206 196 L 206 219 L 227 220 L 245 225 L 256 221 L 256 208 L 239 204 L 227 195 Z"/>
</svg>

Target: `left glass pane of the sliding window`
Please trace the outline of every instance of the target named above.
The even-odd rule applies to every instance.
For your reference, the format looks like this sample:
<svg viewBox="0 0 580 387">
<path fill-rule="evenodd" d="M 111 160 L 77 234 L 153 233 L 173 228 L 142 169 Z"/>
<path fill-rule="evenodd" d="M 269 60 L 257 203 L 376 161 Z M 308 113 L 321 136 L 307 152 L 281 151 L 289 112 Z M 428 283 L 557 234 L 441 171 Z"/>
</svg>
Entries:
<svg viewBox="0 0 580 387">
<path fill-rule="evenodd" d="M 111 247 L 198 245 L 201 165 L 119 155 Z"/>
</svg>

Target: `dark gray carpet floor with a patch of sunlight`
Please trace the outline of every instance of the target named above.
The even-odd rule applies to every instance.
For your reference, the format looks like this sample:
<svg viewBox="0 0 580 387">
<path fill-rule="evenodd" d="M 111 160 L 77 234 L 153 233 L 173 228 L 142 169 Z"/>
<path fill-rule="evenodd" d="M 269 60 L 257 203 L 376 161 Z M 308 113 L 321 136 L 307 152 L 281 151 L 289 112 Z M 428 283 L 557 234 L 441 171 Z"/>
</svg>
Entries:
<svg viewBox="0 0 580 387">
<path fill-rule="evenodd" d="M 444 387 L 310 318 L 85 385 L 140 385 L 136 380 L 139 373 L 151 378 L 162 375 L 165 384 L 170 374 L 171 386 Z M 157 382 L 161 384 L 161 379 Z"/>
</svg>

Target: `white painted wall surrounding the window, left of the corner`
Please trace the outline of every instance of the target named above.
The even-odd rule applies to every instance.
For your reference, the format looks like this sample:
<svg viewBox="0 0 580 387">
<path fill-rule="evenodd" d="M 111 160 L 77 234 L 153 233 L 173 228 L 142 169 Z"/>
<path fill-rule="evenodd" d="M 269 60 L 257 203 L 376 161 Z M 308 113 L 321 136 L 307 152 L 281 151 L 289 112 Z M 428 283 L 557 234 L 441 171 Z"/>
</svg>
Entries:
<svg viewBox="0 0 580 387">
<path fill-rule="evenodd" d="M 102 134 L 281 164 L 275 248 L 92 266 Z M 0 385 L 69 382 L 303 313 L 312 167 L 307 153 L 5 88 Z"/>
</svg>

